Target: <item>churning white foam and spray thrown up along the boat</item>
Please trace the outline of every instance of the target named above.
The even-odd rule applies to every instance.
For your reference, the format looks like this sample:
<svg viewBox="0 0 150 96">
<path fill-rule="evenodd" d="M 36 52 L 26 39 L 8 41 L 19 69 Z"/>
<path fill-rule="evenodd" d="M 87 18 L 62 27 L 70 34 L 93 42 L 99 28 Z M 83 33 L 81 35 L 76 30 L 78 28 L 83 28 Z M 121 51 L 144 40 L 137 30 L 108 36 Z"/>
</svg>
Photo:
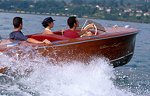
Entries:
<svg viewBox="0 0 150 96">
<path fill-rule="evenodd" d="M 0 76 L 0 95 L 11 96 L 135 96 L 113 83 L 114 68 L 97 58 L 85 65 L 60 62 L 44 57 L 14 61 L 1 54 L 0 63 L 11 67 Z"/>
</svg>

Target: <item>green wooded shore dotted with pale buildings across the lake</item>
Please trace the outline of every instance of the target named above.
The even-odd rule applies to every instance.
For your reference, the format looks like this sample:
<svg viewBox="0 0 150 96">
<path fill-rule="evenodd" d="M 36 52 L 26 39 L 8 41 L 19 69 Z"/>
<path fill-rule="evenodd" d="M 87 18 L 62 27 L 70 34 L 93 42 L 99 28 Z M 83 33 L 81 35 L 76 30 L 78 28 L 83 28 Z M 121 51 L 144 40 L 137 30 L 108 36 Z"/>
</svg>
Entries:
<svg viewBox="0 0 150 96">
<path fill-rule="evenodd" d="M 150 23 L 150 0 L 0 0 L 0 11 Z"/>
</svg>

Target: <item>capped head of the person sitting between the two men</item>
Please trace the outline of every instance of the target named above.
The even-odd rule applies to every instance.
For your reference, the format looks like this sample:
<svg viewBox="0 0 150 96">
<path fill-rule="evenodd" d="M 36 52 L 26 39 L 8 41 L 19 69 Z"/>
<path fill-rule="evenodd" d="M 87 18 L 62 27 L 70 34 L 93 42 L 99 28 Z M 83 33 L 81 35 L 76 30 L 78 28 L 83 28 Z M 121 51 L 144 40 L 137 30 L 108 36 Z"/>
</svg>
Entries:
<svg viewBox="0 0 150 96">
<path fill-rule="evenodd" d="M 50 27 L 52 28 L 54 26 L 54 21 L 52 17 L 47 17 L 43 20 L 42 25 L 43 27 Z"/>
</svg>

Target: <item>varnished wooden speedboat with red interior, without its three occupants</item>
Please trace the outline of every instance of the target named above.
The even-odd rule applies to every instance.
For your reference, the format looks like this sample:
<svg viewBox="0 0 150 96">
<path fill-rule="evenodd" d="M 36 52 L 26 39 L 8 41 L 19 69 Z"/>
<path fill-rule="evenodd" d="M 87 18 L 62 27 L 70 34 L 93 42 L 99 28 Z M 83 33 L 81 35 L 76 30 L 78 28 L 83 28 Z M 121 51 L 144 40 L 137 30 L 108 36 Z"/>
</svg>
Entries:
<svg viewBox="0 0 150 96">
<path fill-rule="evenodd" d="M 114 67 L 127 64 L 133 56 L 137 29 L 134 28 L 105 28 L 106 32 L 94 36 L 70 39 L 57 31 L 52 35 L 31 34 L 28 37 L 44 40 L 48 39 L 52 44 L 31 44 L 25 41 L 3 40 L 0 44 L 0 52 L 14 56 L 35 54 L 50 58 L 55 62 L 81 61 L 88 63 L 93 58 L 105 57 Z M 27 50 L 28 49 L 28 50 Z M 30 50 L 29 50 L 30 49 Z M 33 53 L 34 52 L 34 56 Z M 32 53 L 32 54 L 31 54 Z"/>
</svg>

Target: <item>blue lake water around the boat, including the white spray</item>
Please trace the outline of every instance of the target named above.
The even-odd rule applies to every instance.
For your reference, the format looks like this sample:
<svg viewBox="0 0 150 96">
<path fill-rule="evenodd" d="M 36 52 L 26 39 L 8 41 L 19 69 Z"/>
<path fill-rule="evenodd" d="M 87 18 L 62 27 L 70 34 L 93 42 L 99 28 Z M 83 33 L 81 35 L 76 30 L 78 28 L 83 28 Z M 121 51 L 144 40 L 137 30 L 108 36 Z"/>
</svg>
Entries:
<svg viewBox="0 0 150 96">
<path fill-rule="evenodd" d="M 41 21 L 47 17 L 0 13 L 2 38 L 8 38 L 15 16 L 23 18 L 24 34 L 41 32 Z M 65 28 L 66 17 L 53 18 L 53 31 Z M 108 61 L 96 58 L 88 66 L 69 62 L 62 67 L 54 66 L 46 57 L 22 62 L 0 54 L 0 65 L 12 68 L 7 74 L 0 74 L 0 96 L 150 96 L 150 24 L 94 20 L 104 26 L 130 25 L 140 30 L 134 56 L 127 65 L 112 68 Z"/>
</svg>

